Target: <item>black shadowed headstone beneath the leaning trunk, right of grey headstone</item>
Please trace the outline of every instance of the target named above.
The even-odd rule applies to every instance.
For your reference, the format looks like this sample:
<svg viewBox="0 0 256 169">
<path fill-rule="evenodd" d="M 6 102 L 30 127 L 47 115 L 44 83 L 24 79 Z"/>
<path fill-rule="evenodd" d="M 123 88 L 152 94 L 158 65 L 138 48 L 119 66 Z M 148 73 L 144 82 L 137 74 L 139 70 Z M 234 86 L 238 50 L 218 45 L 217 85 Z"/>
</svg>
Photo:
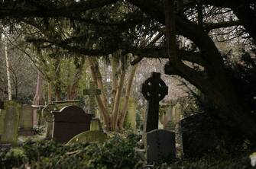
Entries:
<svg viewBox="0 0 256 169">
<path fill-rule="evenodd" d="M 198 113 L 181 120 L 184 157 L 198 157 L 218 146 L 218 124 L 206 113 Z M 223 142 L 222 142 L 223 143 Z"/>
</svg>

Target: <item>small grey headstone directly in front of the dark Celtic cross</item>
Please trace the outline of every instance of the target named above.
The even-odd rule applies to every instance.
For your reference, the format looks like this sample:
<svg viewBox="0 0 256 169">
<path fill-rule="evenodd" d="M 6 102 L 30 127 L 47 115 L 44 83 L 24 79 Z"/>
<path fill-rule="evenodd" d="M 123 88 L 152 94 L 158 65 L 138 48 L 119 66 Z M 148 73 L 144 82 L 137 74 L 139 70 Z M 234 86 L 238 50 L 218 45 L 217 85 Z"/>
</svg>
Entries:
<svg viewBox="0 0 256 169">
<path fill-rule="evenodd" d="M 147 132 L 147 164 L 176 158 L 175 133 L 165 129 Z"/>
</svg>

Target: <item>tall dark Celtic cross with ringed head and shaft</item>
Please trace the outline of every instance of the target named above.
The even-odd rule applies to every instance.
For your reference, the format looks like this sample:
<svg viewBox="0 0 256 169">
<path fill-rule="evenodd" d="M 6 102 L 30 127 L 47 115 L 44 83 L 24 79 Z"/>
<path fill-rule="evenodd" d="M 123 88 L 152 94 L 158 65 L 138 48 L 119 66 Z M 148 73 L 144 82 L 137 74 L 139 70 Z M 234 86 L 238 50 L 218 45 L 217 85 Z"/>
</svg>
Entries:
<svg viewBox="0 0 256 169">
<path fill-rule="evenodd" d="M 160 78 L 160 73 L 152 72 L 142 84 L 141 92 L 147 100 L 145 132 L 158 129 L 159 101 L 168 94 L 168 87 Z"/>
</svg>

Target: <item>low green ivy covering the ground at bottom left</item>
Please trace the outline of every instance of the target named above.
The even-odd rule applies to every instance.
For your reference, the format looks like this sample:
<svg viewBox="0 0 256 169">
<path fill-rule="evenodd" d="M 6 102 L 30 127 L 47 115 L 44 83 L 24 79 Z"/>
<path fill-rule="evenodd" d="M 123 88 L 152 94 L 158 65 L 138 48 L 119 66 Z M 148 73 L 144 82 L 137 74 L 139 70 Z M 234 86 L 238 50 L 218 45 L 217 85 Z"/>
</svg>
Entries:
<svg viewBox="0 0 256 169">
<path fill-rule="evenodd" d="M 61 145 L 54 141 L 24 142 L 22 151 L 1 151 L 3 168 L 138 168 L 134 135 L 114 135 L 103 144 Z"/>
</svg>

